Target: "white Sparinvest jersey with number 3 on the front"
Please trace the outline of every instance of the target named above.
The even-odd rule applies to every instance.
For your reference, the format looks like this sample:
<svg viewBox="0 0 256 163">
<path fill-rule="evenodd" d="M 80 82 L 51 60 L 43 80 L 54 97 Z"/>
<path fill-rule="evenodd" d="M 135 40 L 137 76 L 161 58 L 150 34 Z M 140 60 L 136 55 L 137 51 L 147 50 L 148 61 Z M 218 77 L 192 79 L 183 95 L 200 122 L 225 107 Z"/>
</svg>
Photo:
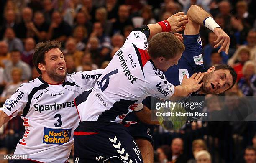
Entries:
<svg viewBox="0 0 256 163">
<path fill-rule="evenodd" d="M 25 134 L 14 154 L 28 154 L 31 160 L 45 163 L 66 162 L 79 124 L 74 98 L 93 87 L 102 72 L 67 74 L 60 84 L 48 84 L 41 76 L 21 84 L 0 108 L 10 118 L 23 111 Z"/>
</svg>

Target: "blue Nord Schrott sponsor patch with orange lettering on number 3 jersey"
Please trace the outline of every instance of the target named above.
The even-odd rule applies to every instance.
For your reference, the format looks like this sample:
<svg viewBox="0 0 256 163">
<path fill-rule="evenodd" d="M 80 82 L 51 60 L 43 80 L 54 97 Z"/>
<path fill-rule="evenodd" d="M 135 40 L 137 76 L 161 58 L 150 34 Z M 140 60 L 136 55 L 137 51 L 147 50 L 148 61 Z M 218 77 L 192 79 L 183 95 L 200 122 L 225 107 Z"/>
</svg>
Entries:
<svg viewBox="0 0 256 163">
<path fill-rule="evenodd" d="M 64 144 L 70 139 L 71 129 L 46 128 L 44 127 L 43 143 Z"/>
</svg>

